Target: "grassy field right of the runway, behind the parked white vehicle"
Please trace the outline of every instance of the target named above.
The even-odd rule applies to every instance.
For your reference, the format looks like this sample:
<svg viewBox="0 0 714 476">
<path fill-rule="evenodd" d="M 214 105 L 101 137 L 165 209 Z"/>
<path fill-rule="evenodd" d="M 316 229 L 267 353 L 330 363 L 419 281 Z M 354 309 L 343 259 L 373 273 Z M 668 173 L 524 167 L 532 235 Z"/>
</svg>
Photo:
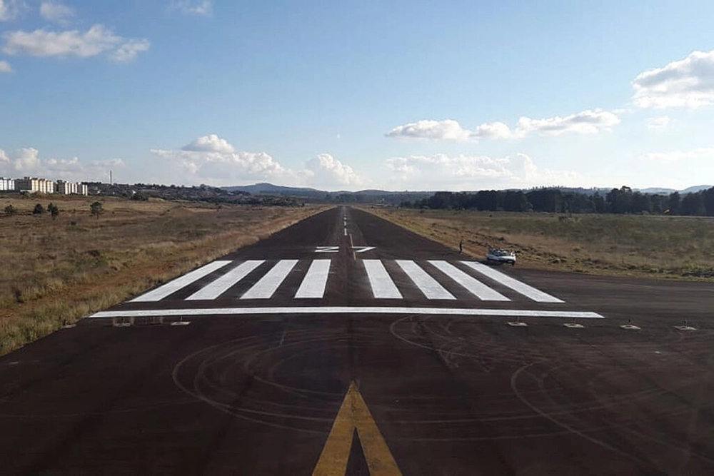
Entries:
<svg viewBox="0 0 714 476">
<path fill-rule="evenodd" d="M 714 218 L 365 209 L 476 258 L 491 244 L 528 268 L 714 280 Z"/>
</svg>

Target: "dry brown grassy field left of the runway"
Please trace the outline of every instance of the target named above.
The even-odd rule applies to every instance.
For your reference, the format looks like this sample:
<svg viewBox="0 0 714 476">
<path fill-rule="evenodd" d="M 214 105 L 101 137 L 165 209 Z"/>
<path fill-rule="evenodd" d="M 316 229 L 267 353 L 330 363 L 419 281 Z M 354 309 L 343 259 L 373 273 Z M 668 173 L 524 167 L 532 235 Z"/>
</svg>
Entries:
<svg viewBox="0 0 714 476">
<path fill-rule="evenodd" d="M 0 198 L 0 355 L 325 207 Z M 59 216 L 34 214 L 54 203 Z"/>
</svg>

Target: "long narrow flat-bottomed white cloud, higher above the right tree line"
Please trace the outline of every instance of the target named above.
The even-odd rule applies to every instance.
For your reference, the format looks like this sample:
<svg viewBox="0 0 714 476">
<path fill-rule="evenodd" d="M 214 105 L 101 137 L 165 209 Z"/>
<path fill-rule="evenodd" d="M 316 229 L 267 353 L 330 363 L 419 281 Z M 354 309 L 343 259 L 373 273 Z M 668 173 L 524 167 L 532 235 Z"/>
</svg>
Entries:
<svg viewBox="0 0 714 476">
<path fill-rule="evenodd" d="M 397 126 L 385 135 L 390 138 L 422 139 L 431 141 L 477 141 L 478 139 L 523 138 L 537 133 L 540 136 L 559 136 L 563 133 L 593 134 L 610 131 L 620 123 L 615 113 L 602 109 L 588 109 L 570 116 L 545 119 L 522 117 L 513 130 L 502 122 L 483 123 L 469 131 L 453 119 L 423 120 Z"/>
</svg>

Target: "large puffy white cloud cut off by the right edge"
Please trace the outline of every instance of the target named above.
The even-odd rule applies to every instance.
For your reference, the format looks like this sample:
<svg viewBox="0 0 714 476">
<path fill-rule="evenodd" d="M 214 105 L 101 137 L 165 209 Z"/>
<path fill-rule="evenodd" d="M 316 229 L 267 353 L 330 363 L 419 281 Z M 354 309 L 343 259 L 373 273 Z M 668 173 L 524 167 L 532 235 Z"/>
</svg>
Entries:
<svg viewBox="0 0 714 476">
<path fill-rule="evenodd" d="M 640 108 L 709 106 L 714 103 L 714 50 L 694 51 L 683 60 L 644 71 L 632 85 L 633 101 Z"/>
</svg>

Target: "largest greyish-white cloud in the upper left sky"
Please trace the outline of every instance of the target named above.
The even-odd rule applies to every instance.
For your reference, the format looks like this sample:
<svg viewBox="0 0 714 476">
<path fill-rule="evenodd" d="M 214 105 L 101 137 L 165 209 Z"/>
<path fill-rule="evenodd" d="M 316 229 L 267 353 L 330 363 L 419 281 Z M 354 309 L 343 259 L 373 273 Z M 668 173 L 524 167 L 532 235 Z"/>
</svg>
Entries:
<svg viewBox="0 0 714 476">
<path fill-rule="evenodd" d="M 30 56 L 79 56 L 89 58 L 108 54 L 115 61 L 130 61 L 139 51 L 149 49 L 149 40 L 126 39 L 114 34 L 102 24 L 96 24 L 84 33 L 71 31 L 12 31 L 4 34 L 3 51 L 6 54 Z"/>
</svg>

